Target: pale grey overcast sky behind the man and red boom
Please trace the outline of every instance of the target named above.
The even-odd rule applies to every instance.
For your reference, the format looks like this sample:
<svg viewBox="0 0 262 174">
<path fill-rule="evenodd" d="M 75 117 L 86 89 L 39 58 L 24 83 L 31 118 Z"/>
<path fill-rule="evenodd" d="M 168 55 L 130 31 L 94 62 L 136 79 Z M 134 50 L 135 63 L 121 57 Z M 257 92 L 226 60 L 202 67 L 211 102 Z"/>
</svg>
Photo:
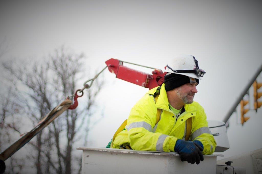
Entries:
<svg viewBox="0 0 262 174">
<path fill-rule="evenodd" d="M 65 45 L 85 53 L 87 68 L 95 73 L 111 57 L 163 69 L 176 54 L 194 55 L 206 71 L 195 101 L 204 107 L 209 120 L 222 121 L 262 64 L 261 16 L 260 1 L 1 2 L 0 39 L 7 37 L 12 47 L 1 59 L 43 59 Z M 105 117 L 89 138 L 91 146 L 99 147 L 108 143 L 148 90 L 116 79 L 108 70 L 103 75 L 106 85 L 99 105 Z M 244 127 L 239 114 L 231 119 L 231 144 L 261 132 L 261 111 L 250 113 L 254 117 Z M 254 141 L 241 144 L 232 154 L 262 148 L 260 139 Z"/>
</svg>

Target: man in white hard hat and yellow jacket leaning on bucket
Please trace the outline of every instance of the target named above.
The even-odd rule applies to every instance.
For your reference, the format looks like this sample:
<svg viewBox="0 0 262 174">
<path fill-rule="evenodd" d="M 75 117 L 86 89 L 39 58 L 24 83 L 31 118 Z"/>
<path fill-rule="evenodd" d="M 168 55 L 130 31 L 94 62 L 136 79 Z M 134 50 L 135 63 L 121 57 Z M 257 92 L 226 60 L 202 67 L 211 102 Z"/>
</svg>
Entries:
<svg viewBox="0 0 262 174">
<path fill-rule="evenodd" d="M 149 90 L 135 104 L 111 147 L 178 152 L 182 161 L 199 164 L 203 154 L 212 154 L 216 147 L 204 109 L 193 102 L 205 71 L 194 56 L 180 55 L 167 64 L 165 72 L 161 88 Z"/>
</svg>

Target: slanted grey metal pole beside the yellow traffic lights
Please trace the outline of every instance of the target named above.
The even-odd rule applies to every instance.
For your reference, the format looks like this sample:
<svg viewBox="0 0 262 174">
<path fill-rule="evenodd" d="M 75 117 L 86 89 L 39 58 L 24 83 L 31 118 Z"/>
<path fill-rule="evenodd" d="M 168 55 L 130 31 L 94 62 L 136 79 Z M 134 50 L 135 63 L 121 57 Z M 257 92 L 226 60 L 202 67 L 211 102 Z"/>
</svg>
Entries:
<svg viewBox="0 0 262 174">
<path fill-rule="evenodd" d="M 260 72 L 262 71 L 262 65 L 259 67 L 258 71 L 256 71 L 256 73 L 254 74 L 254 76 L 252 77 L 252 79 L 248 82 L 247 86 L 244 88 L 244 90 L 241 92 L 241 94 L 239 95 L 239 97 L 237 98 L 236 102 L 234 103 L 234 105 L 231 107 L 231 109 L 228 111 L 226 117 L 224 118 L 224 122 L 227 123 L 228 119 L 230 118 L 230 116 L 232 115 L 232 113 L 236 110 L 236 107 L 238 106 L 238 104 L 240 103 L 240 101 L 243 99 L 244 95 L 247 94 L 247 91 L 249 90 L 250 86 L 254 83 L 254 81 L 256 80 L 256 78 L 259 76 Z"/>
</svg>

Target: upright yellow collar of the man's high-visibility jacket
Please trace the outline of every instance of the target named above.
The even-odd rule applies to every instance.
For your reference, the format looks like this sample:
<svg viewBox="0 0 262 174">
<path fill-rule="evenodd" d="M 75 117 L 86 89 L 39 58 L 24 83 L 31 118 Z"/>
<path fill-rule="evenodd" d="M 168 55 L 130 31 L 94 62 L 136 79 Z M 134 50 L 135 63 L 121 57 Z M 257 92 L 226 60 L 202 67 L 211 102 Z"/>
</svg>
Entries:
<svg viewBox="0 0 262 174">
<path fill-rule="evenodd" d="M 157 89 L 157 87 L 149 90 L 147 92 L 147 94 L 154 95 L 155 92 L 156 92 L 156 89 Z M 162 86 L 161 86 L 161 89 L 160 89 L 159 97 L 158 97 L 157 102 L 156 102 L 156 107 L 161 108 L 161 109 L 165 109 L 165 110 L 169 110 L 168 104 L 169 103 L 168 103 L 168 98 L 167 98 L 167 94 L 166 94 L 165 83 L 163 83 Z M 185 104 L 183 107 L 184 107 L 186 112 L 191 112 L 191 111 L 196 110 L 194 102 L 192 104 Z"/>
</svg>

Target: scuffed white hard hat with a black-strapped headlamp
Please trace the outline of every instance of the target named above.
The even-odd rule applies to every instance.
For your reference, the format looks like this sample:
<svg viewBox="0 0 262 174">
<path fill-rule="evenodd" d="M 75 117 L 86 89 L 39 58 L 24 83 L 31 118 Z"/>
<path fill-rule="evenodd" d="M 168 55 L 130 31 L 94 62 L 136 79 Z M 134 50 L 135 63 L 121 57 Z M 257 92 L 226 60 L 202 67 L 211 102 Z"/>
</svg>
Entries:
<svg viewBox="0 0 262 174">
<path fill-rule="evenodd" d="M 191 55 L 178 55 L 174 57 L 165 67 L 165 72 L 182 74 L 184 76 L 203 80 L 202 77 L 206 73 L 204 70 L 199 69 L 198 61 Z"/>
</svg>

